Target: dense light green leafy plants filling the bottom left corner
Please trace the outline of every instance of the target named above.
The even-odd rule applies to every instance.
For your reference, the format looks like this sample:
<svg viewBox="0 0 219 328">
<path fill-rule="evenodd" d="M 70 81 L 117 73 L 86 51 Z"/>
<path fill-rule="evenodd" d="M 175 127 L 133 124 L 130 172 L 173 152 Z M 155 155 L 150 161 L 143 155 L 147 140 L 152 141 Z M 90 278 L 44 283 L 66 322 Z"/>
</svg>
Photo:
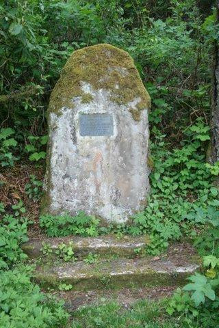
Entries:
<svg viewBox="0 0 219 328">
<path fill-rule="evenodd" d="M 47 297 L 31 282 L 31 267 L 21 267 L 0 274 L 0 327 L 61 328 L 68 314 L 62 301 Z"/>
</svg>

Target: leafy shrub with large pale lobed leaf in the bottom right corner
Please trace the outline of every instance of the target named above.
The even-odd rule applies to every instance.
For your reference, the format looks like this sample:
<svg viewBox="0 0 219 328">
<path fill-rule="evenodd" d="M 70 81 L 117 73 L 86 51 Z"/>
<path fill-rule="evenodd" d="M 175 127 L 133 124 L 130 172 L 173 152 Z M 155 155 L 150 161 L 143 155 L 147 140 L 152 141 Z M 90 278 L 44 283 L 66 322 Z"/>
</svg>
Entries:
<svg viewBox="0 0 219 328">
<path fill-rule="evenodd" d="M 190 283 L 177 289 L 166 309 L 170 315 L 179 315 L 185 327 L 218 327 L 219 318 L 219 259 L 205 256 L 205 275 L 194 273 Z M 184 327 L 184 326 L 183 326 Z"/>
</svg>

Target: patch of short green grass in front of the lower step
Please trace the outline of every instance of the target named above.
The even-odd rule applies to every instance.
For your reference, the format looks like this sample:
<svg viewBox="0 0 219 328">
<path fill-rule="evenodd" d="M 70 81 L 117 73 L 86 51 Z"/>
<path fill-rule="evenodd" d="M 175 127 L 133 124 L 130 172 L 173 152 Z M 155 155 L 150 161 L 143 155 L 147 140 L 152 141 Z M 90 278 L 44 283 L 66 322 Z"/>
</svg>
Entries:
<svg viewBox="0 0 219 328">
<path fill-rule="evenodd" d="M 138 301 L 130 309 L 116 302 L 80 308 L 73 312 L 72 328 L 179 328 L 176 318 L 166 314 L 166 300 Z"/>
</svg>

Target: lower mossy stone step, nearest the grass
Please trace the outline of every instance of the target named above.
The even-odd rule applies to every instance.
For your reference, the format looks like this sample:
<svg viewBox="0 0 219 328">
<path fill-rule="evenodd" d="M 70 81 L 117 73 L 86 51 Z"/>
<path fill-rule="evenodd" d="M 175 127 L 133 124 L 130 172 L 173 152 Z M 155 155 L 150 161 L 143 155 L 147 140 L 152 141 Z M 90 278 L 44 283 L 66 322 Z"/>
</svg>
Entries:
<svg viewBox="0 0 219 328">
<path fill-rule="evenodd" d="M 180 249 L 179 249 L 180 250 Z M 71 284 L 74 290 L 93 288 L 129 288 L 145 286 L 181 286 L 185 278 L 198 269 L 198 261 L 191 262 L 190 251 L 169 254 L 164 258 L 118 258 L 99 260 L 95 264 L 84 261 L 46 263 L 34 274 L 42 286 L 57 287 Z"/>
</svg>

